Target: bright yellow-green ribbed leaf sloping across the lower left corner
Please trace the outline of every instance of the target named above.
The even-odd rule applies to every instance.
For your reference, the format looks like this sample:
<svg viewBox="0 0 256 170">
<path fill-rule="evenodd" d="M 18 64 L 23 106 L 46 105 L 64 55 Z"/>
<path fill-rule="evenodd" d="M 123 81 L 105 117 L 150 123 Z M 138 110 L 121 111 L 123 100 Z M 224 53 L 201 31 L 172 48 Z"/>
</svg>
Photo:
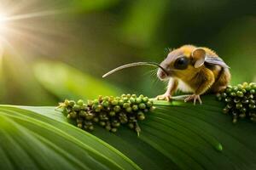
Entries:
<svg viewBox="0 0 256 170">
<path fill-rule="evenodd" d="M 0 106 L 1 169 L 139 169 L 109 144 L 63 121 L 54 108 L 32 108 L 41 115 L 20 108 Z"/>
</svg>

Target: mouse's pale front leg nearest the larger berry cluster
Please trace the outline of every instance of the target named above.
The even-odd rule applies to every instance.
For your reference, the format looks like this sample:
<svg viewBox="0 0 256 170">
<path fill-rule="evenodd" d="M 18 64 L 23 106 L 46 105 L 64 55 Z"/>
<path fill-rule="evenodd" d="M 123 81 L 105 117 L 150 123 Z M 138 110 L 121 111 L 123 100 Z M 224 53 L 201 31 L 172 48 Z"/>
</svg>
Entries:
<svg viewBox="0 0 256 170">
<path fill-rule="evenodd" d="M 158 95 L 156 97 L 156 99 L 160 99 L 160 100 L 166 99 L 167 101 L 170 101 L 172 99 L 172 94 L 177 89 L 177 84 L 178 84 L 177 79 L 170 78 L 170 80 L 168 82 L 166 93 Z"/>
</svg>

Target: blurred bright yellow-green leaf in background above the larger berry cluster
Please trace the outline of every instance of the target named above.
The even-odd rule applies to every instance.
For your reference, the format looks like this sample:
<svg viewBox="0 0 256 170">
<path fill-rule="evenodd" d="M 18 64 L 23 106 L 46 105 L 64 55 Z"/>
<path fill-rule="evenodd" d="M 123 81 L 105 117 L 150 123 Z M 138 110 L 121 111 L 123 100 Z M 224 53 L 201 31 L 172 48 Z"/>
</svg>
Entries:
<svg viewBox="0 0 256 170">
<path fill-rule="evenodd" d="M 99 94 L 119 95 L 119 88 L 60 62 L 40 62 L 34 74 L 44 88 L 60 99 L 94 99 Z"/>
</svg>

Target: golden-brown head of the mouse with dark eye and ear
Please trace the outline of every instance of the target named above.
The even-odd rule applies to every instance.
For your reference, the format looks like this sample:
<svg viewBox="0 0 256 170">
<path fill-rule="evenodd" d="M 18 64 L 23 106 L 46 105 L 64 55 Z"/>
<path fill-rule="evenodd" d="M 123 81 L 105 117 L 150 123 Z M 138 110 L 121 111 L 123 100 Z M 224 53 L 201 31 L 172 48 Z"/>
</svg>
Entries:
<svg viewBox="0 0 256 170">
<path fill-rule="evenodd" d="M 161 69 L 158 70 L 157 76 L 160 80 L 165 80 L 169 77 L 190 77 L 191 73 L 196 73 L 201 70 L 206 59 L 206 50 L 204 48 L 196 48 L 192 45 L 185 45 L 181 48 L 172 50 L 160 64 L 168 75 Z"/>
</svg>

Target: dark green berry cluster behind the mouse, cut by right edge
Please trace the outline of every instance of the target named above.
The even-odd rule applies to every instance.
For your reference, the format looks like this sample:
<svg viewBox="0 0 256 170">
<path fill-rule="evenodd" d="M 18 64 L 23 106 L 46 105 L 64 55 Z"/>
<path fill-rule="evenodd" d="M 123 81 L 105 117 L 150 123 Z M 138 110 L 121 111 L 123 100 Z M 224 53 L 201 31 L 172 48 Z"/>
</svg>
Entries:
<svg viewBox="0 0 256 170">
<path fill-rule="evenodd" d="M 247 117 L 256 122 L 256 83 L 243 82 L 237 86 L 228 86 L 222 94 L 217 94 L 218 100 L 224 100 L 226 106 L 223 112 L 233 116 L 233 122 L 238 118 Z"/>
</svg>

